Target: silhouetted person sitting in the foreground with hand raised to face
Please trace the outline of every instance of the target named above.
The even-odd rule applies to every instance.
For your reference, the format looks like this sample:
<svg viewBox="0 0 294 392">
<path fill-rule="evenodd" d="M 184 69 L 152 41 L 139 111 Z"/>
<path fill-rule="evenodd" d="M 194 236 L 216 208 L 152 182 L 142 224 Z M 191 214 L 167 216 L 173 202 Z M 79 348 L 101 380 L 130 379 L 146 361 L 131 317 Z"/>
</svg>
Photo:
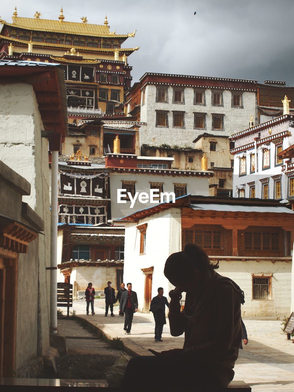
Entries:
<svg viewBox="0 0 294 392">
<path fill-rule="evenodd" d="M 215 272 L 207 254 L 194 244 L 174 253 L 164 274 L 171 290 L 169 325 L 172 336 L 185 333 L 183 348 L 138 356 L 129 361 L 123 388 L 213 392 L 227 387 L 242 339 L 240 302 L 244 293 L 234 281 Z M 181 312 L 181 293 L 186 292 Z"/>
</svg>

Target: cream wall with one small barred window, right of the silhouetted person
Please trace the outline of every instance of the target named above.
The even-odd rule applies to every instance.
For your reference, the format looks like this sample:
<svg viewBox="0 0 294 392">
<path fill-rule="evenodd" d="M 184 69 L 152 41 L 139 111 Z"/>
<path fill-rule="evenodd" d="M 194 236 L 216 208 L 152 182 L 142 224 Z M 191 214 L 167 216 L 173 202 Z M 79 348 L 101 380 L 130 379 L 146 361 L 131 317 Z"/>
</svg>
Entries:
<svg viewBox="0 0 294 392">
<path fill-rule="evenodd" d="M 233 279 L 245 293 L 242 318 L 279 319 L 290 315 L 291 264 L 284 261 L 220 261 L 219 274 Z M 272 274 L 272 299 L 252 299 L 252 274 Z"/>
</svg>

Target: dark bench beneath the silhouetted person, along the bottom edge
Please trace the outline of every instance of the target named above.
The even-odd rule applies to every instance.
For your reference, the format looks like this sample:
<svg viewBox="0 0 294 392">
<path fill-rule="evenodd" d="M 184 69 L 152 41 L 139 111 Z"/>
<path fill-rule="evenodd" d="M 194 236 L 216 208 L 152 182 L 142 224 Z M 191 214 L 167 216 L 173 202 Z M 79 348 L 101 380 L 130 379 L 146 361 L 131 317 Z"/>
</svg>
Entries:
<svg viewBox="0 0 294 392">
<path fill-rule="evenodd" d="M 107 387 L 106 380 L 62 380 L 46 378 L 0 378 L 0 388 L 5 386 L 5 392 L 27 392 L 36 390 L 51 392 L 68 392 L 69 387 L 78 387 L 79 391 L 99 391 Z M 34 388 L 36 387 L 36 389 Z M 38 389 L 37 389 L 38 388 Z M 3 388 L 4 389 L 4 388 Z M 118 392 L 119 388 L 108 387 L 107 392 Z M 232 381 L 220 392 L 251 392 L 251 387 L 244 381 Z"/>
</svg>

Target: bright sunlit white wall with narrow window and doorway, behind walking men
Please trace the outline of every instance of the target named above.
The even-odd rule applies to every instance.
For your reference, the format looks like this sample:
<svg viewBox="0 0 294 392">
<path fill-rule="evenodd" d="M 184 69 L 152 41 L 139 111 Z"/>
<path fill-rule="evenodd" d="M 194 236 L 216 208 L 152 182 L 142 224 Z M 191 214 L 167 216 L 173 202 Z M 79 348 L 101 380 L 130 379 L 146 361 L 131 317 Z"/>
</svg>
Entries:
<svg viewBox="0 0 294 392">
<path fill-rule="evenodd" d="M 140 231 L 138 225 L 147 223 L 146 252 L 140 255 Z M 173 288 L 163 274 L 166 259 L 171 253 L 181 250 L 181 211 L 169 209 L 154 214 L 138 223 L 127 223 L 125 229 L 125 260 L 123 281 L 132 283 L 132 290 L 138 295 L 139 311 L 144 305 L 145 274 L 141 269 L 154 267 L 152 276 L 152 298 L 158 287 L 163 287 L 168 297 Z M 145 310 L 145 309 L 144 309 Z"/>
</svg>

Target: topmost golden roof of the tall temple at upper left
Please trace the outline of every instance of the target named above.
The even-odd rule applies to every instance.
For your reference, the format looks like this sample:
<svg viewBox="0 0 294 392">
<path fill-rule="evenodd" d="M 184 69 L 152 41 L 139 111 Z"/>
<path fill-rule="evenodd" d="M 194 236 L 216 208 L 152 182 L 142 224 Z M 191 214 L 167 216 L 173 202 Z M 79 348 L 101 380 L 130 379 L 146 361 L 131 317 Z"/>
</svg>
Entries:
<svg viewBox="0 0 294 392">
<path fill-rule="evenodd" d="M 37 30 L 37 31 L 52 31 L 56 33 L 68 33 L 77 35 L 87 35 L 87 36 L 113 36 L 113 37 L 127 37 L 127 34 L 116 35 L 111 34 L 109 31 L 109 26 L 107 25 L 94 25 L 89 23 L 77 23 L 77 22 L 66 22 L 63 20 L 49 20 L 40 18 L 20 18 L 18 16 L 12 17 L 13 23 L 5 24 L 7 26 L 20 27 L 27 30 Z"/>
</svg>

